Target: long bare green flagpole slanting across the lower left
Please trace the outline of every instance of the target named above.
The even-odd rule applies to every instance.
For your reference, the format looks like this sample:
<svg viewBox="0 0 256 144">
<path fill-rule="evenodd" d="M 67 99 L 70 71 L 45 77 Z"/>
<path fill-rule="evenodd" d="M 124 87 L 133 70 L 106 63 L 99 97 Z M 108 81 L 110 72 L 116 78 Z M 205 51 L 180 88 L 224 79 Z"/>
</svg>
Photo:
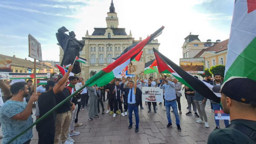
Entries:
<svg viewBox="0 0 256 144">
<path fill-rule="evenodd" d="M 71 97 L 73 97 L 74 95 L 76 95 L 79 91 L 81 91 L 82 89 L 84 89 L 86 87 L 86 85 L 83 85 L 79 90 L 76 90 L 72 95 L 70 95 L 69 97 L 67 97 L 65 100 L 63 100 L 62 102 L 60 102 L 59 104 L 57 104 L 55 107 L 52 108 L 52 110 L 48 111 L 46 114 L 44 114 L 42 117 L 40 117 L 38 120 L 36 120 L 31 126 L 29 126 L 28 128 L 26 128 L 24 131 L 20 132 L 18 135 L 16 135 L 15 137 L 13 137 L 9 142 L 7 142 L 7 144 L 10 144 L 11 142 L 13 142 L 14 140 L 16 140 L 20 135 L 23 135 L 26 131 L 28 131 L 29 129 L 33 128 L 34 125 L 38 124 L 41 120 L 43 120 L 45 117 L 47 117 L 49 114 L 51 114 L 53 111 L 55 111 L 56 109 L 58 109 L 58 107 L 60 107 L 61 105 L 63 105 L 67 100 L 69 100 Z"/>
</svg>

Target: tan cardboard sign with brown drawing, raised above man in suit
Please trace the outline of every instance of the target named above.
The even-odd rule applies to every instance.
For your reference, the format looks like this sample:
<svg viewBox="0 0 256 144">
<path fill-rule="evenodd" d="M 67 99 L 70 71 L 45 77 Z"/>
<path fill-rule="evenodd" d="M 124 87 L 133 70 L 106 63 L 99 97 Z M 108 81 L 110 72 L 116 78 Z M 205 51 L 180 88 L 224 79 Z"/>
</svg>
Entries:
<svg viewBox="0 0 256 144">
<path fill-rule="evenodd" d="M 145 63 L 141 61 L 131 61 L 128 65 L 127 74 L 138 75 L 144 73 Z"/>
</svg>

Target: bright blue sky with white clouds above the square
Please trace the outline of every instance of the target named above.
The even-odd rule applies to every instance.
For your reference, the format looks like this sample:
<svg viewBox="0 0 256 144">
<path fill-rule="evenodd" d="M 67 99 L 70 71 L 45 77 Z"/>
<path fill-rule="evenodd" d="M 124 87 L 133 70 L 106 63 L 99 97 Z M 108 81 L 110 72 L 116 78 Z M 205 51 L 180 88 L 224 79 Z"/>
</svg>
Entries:
<svg viewBox="0 0 256 144">
<path fill-rule="evenodd" d="M 145 39 L 161 26 L 159 51 L 179 64 L 189 32 L 208 39 L 229 38 L 234 0 L 113 0 L 119 28 Z M 106 27 L 111 0 L 1 0 L 0 54 L 28 58 L 28 34 L 41 43 L 43 60 L 59 61 L 55 33 L 65 26 L 82 40 Z"/>
</svg>

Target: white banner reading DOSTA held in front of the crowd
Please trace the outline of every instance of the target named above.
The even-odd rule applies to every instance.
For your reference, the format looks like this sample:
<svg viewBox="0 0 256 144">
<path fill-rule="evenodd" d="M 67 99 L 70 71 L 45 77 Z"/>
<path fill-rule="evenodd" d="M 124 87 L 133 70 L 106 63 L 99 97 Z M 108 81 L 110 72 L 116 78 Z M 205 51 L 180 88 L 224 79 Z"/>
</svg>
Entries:
<svg viewBox="0 0 256 144">
<path fill-rule="evenodd" d="M 142 87 L 142 101 L 163 102 L 163 90 L 160 87 Z"/>
</svg>

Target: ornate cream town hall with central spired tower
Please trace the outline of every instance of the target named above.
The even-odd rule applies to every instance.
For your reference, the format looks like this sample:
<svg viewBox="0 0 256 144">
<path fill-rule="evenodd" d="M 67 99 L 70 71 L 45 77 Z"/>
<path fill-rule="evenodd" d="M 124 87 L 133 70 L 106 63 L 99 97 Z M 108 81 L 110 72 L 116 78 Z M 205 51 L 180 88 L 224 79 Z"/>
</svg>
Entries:
<svg viewBox="0 0 256 144">
<path fill-rule="evenodd" d="M 86 64 L 81 63 L 82 76 L 84 78 L 90 78 L 95 73 L 99 72 L 110 63 L 112 58 L 120 56 L 125 48 L 132 45 L 133 43 L 142 41 L 134 40 L 132 38 L 131 31 L 129 35 L 126 33 L 125 28 L 118 28 L 118 17 L 115 12 L 113 0 L 111 1 L 110 11 L 106 17 L 106 28 L 94 28 L 94 32 L 89 35 L 88 30 L 86 31 L 83 41 L 85 46 L 80 52 L 80 57 L 87 59 Z M 150 44 L 147 44 L 143 48 L 143 54 L 141 61 L 148 62 L 155 58 L 153 47 L 158 50 L 160 43 L 158 40 L 152 40 Z M 63 50 L 60 47 L 60 61 L 63 57 Z M 150 74 L 146 76 L 157 77 L 158 74 Z"/>
</svg>

